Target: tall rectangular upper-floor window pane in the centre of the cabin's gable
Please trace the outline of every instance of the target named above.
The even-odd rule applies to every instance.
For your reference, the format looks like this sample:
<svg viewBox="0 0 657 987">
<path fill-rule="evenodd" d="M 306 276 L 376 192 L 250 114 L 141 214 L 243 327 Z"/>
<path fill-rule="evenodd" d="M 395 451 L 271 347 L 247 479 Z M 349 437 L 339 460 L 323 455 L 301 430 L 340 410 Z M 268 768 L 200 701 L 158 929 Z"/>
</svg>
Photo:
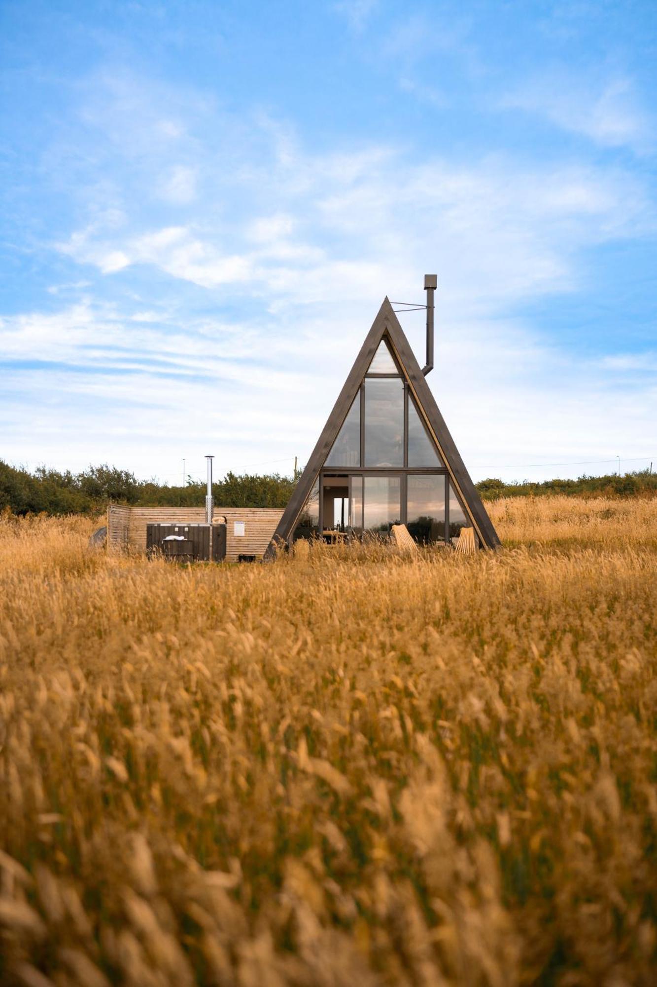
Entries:
<svg viewBox="0 0 657 987">
<path fill-rule="evenodd" d="M 403 466 L 403 384 L 368 378 L 363 386 L 365 466 Z"/>
</svg>

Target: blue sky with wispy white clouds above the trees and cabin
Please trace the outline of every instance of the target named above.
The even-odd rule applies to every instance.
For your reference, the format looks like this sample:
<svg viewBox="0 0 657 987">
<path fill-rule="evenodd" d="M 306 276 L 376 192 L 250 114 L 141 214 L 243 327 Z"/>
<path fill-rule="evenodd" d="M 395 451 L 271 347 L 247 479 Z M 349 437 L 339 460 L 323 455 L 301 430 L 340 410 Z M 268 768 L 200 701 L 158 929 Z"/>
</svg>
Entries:
<svg viewBox="0 0 657 987">
<path fill-rule="evenodd" d="M 657 468 L 654 3 L 2 0 L 0 66 L 0 458 L 290 473 L 436 272 L 475 480 Z"/>
</svg>

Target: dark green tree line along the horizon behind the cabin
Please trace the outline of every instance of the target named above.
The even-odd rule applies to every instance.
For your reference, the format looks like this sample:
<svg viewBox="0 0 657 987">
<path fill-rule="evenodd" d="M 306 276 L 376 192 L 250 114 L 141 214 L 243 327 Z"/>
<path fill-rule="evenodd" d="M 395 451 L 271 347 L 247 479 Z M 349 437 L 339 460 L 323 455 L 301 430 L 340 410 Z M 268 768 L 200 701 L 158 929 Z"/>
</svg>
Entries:
<svg viewBox="0 0 657 987">
<path fill-rule="evenodd" d="M 278 473 L 241 476 L 229 472 L 213 484 L 214 502 L 223 507 L 285 507 L 296 481 Z M 573 496 L 653 496 L 657 475 L 652 470 L 579 477 L 577 480 L 524 481 L 506 484 L 489 478 L 474 485 L 483 500 L 503 496 L 540 496 L 566 493 Z M 39 467 L 34 473 L 0 460 L 0 510 L 15 514 L 94 514 L 109 503 L 139 507 L 198 507 L 205 502 L 205 484 L 189 482 L 170 487 L 155 480 L 137 480 L 128 470 L 114 466 L 90 466 L 82 473 Z"/>
</svg>

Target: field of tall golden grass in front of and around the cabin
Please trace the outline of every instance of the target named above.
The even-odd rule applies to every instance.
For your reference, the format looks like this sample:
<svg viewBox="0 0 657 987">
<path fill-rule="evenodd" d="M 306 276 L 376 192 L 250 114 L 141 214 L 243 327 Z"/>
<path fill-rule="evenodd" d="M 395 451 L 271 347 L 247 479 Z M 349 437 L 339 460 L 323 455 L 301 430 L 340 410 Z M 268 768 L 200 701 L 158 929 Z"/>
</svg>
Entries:
<svg viewBox="0 0 657 987">
<path fill-rule="evenodd" d="M 652 984 L 657 500 L 267 566 L 0 521 L 0 982 Z"/>
</svg>

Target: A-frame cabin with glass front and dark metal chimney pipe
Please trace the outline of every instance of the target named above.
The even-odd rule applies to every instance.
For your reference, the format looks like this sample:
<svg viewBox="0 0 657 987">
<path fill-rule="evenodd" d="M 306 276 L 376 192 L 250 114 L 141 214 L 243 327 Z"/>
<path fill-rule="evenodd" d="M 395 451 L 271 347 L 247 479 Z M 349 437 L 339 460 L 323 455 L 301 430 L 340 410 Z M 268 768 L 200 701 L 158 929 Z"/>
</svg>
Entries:
<svg viewBox="0 0 657 987">
<path fill-rule="evenodd" d="M 449 545 L 473 527 L 480 548 L 500 544 L 385 298 L 267 555 L 298 538 L 386 535 L 399 523 L 420 543 Z"/>
</svg>

